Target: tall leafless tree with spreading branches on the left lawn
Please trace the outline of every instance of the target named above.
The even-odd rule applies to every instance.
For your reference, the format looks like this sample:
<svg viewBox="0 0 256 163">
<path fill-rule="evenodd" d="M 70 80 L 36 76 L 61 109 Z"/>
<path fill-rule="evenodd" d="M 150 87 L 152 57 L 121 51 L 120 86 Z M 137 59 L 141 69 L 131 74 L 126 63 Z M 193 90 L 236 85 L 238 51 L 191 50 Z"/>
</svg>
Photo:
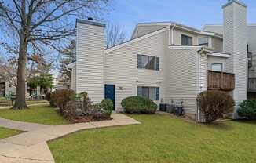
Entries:
<svg viewBox="0 0 256 163">
<path fill-rule="evenodd" d="M 110 0 L 0 0 L 0 27 L 17 54 L 17 89 L 13 109 L 27 108 L 25 81 L 27 60 L 43 57 L 47 49 L 60 51 L 72 36 L 72 17 L 86 18 L 104 9 Z M 33 52 L 34 51 L 34 52 Z M 36 57 L 31 57 L 31 53 Z M 39 57 L 38 57 L 39 56 Z"/>
</svg>

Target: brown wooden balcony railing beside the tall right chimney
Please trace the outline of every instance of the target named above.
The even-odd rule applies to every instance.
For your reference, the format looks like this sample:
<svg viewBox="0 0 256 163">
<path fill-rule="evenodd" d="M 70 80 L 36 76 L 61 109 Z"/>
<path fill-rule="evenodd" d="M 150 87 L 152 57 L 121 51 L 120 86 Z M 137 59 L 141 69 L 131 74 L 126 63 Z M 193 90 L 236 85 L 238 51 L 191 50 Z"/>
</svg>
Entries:
<svg viewBox="0 0 256 163">
<path fill-rule="evenodd" d="M 207 89 L 232 91 L 235 89 L 235 74 L 207 71 Z"/>
</svg>

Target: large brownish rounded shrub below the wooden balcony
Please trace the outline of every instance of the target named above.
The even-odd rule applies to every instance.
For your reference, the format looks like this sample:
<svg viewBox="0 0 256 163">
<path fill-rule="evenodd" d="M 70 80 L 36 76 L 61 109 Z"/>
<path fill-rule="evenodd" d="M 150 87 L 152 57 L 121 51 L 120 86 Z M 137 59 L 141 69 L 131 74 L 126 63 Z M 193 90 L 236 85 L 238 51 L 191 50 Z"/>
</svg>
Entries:
<svg viewBox="0 0 256 163">
<path fill-rule="evenodd" d="M 196 99 L 207 123 L 222 118 L 223 114 L 232 113 L 235 106 L 232 96 L 222 91 L 201 92 Z"/>
</svg>

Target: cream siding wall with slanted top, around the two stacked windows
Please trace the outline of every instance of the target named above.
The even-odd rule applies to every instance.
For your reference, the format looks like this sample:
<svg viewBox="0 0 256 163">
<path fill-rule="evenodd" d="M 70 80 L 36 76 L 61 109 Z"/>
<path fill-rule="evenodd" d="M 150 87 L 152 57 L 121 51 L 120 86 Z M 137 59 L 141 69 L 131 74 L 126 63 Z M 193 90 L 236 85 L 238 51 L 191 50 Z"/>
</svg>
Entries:
<svg viewBox="0 0 256 163">
<path fill-rule="evenodd" d="M 164 60 L 166 31 L 126 45 L 105 54 L 105 84 L 115 85 L 115 106 L 122 111 L 121 102 L 128 96 L 137 96 L 137 86 L 159 87 L 159 101 L 165 99 Z M 159 71 L 137 69 L 137 54 L 159 57 Z M 122 88 L 122 89 L 120 89 Z"/>
</svg>

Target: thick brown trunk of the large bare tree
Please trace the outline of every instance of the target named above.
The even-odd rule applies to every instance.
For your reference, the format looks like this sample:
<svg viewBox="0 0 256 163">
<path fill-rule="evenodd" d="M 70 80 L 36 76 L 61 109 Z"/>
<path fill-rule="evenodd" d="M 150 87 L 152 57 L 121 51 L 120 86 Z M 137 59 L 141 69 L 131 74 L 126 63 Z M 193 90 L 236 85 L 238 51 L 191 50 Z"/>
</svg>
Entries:
<svg viewBox="0 0 256 163">
<path fill-rule="evenodd" d="M 27 109 L 26 103 L 26 62 L 27 62 L 27 39 L 25 32 L 20 33 L 20 48 L 17 72 L 16 100 L 13 110 Z"/>
</svg>

